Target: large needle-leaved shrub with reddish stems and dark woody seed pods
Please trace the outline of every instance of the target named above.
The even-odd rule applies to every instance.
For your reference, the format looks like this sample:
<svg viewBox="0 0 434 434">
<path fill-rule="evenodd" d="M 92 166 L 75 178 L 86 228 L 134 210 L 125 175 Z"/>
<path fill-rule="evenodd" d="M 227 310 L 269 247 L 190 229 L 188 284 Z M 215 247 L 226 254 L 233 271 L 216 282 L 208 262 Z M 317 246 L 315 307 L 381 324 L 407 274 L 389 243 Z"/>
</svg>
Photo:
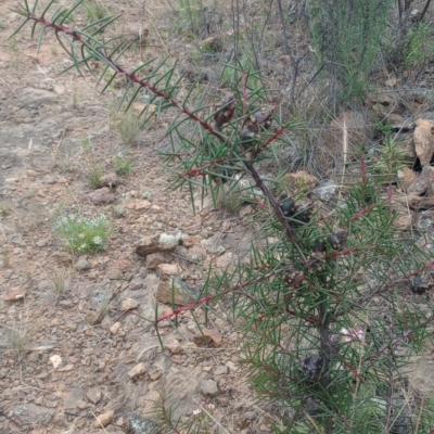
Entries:
<svg viewBox="0 0 434 434">
<path fill-rule="evenodd" d="M 434 322 L 429 301 L 417 298 L 430 291 L 434 260 L 431 244 L 406 239 L 395 225 L 393 186 L 380 191 L 375 168 L 361 153 L 353 162 L 360 180 L 342 186 L 332 213 L 308 197 L 277 195 L 257 165 L 275 157 L 270 144 L 286 140 L 291 123 L 264 104 L 267 89 L 255 72 L 239 61 L 227 65 L 232 88 L 208 106 L 191 108 L 192 94 L 177 99 L 181 78 L 175 79 L 167 59 L 151 73 L 152 61 L 127 71 L 120 63 L 127 47 L 98 38 L 115 18 L 68 28 L 64 23 L 77 5 L 58 9 L 48 20 L 53 2 L 40 14 L 37 1 L 31 9 L 25 1 L 18 11 L 24 24 L 34 23 L 33 33 L 42 25 L 38 44 L 52 29 L 79 72 L 100 61 L 100 81 L 112 72 L 104 89 L 124 75 L 127 110 L 144 93 L 158 111 L 179 111 L 168 131 L 171 150 L 164 154 L 174 188 L 187 188 L 192 200 L 202 194 L 216 202 L 221 189 L 230 192 L 247 180 L 257 205 L 260 242 L 252 244 L 250 265 L 210 273 L 195 302 L 163 317 L 156 312 L 150 327 L 158 332 L 161 322 L 187 310 L 230 311 L 243 331 L 251 381 L 280 421 L 278 433 L 380 434 L 422 426 L 418 403 L 404 399 L 401 391 L 404 368 L 423 348 Z M 173 416 L 162 401 L 157 419 L 168 432 L 201 432 Z"/>
</svg>

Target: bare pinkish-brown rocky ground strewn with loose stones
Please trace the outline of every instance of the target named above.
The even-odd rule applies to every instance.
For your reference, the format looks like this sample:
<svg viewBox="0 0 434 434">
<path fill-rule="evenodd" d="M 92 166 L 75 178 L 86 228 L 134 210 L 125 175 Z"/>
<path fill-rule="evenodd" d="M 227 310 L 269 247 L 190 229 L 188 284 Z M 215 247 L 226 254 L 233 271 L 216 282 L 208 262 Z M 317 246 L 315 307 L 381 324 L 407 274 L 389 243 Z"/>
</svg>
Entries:
<svg viewBox="0 0 434 434">
<path fill-rule="evenodd" d="M 170 311 L 171 282 L 188 297 L 210 264 L 221 269 L 246 258 L 252 230 L 242 217 L 252 209 L 193 213 L 188 192 L 167 190 L 170 176 L 154 153 L 168 119 L 158 118 L 126 149 L 114 127 L 115 91 L 101 95 L 89 73 L 59 75 L 71 61 L 50 33 L 39 54 L 29 28 L 8 40 L 21 22 L 14 5 L 0 4 L 0 432 L 151 433 L 149 411 L 161 395 L 175 397 L 183 418 L 210 405 L 209 432 L 270 432 L 238 365 L 240 336 L 228 318 L 212 316 L 202 335 L 187 312 L 178 331 L 163 324 L 165 349 L 143 319 L 154 318 L 156 305 Z M 146 13 L 159 13 L 155 7 L 136 15 L 127 2 L 112 7 L 126 14 L 118 31 L 132 35 Z M 399 221 L 405 230 L 431 231 L 434 97 L 421 87 L 399 99 L 396 80 L 381 79 L 385 92 L 369 104 L 401 135 L 408 159 L 398 174 Z M 431 73 L 426 84 L 433 80 Z M 343 122 L 355 131 L 349 142 L 369 136 L 362 120 L 345 113 L 330 126 L 329 142 L 341 142 Z M 114 161 L 126 151 L 132 171 L 115 175 Z M 91 186 L 95 171 L 99 186 Z M 327 202 L 333 186 L 326 181 L 315 194 Z M 53 232 L 65 210 L 105 215 L 106 248 L 69 253 Z M 162 233 L 177 240 L 169 252 L 153 238 Z M 146 246 L 152 252 L 143 258 Z M 204 322 L 200 311 L 197 318 Z M 433 392 L 423 367 L 419 359 L 414 381 Z M 220 427 L 212 431 L 215 420 Z"/>
</svg>

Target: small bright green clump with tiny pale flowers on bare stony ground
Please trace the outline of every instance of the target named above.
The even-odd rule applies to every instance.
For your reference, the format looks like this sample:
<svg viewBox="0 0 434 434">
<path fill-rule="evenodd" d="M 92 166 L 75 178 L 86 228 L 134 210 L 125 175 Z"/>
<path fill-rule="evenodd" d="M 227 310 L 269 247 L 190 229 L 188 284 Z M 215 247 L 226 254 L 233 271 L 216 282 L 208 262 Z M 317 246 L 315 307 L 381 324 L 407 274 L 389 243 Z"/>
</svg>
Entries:
<svg viewBox="0 0 434 434">
<path fill-rule="evenodd" d="M 79 213 L 66 213 L 54 222 L 54 232 L 72 252 L 102 252 L 108 238 L 108 225 L 103 214 L 90 218 Z"/>
</svg>

